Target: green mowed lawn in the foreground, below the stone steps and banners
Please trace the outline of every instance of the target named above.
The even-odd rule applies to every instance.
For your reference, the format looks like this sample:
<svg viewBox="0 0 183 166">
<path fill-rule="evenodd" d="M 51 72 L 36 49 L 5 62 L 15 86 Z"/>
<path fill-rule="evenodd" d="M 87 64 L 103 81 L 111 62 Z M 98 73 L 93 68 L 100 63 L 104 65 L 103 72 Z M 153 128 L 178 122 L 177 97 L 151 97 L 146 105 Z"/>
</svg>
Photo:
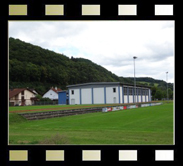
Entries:
<svg viewBox="0 0 183 166">
<path fill-rule="evenodd" d="M 173 103 L 27 121 L 9 114 L 9 144 L 173 144 Z"/>
</svg>

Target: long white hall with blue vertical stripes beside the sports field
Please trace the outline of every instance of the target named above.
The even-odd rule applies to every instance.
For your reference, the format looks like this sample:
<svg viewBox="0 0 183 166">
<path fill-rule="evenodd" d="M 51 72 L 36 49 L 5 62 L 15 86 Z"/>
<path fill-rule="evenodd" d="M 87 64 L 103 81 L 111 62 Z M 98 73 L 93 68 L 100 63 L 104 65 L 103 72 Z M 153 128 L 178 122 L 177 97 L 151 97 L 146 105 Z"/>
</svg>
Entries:
<svg viewBox="0 0 183 166">
<path fill-rule="evenodd" d="M 122 84 L 120 82 L 92 82 L 69 85 L 69 104 L 114 104 L 151 101 L 147 86 Z M 136 95 L 135 95 L 136 94 Z"/>
</svg>

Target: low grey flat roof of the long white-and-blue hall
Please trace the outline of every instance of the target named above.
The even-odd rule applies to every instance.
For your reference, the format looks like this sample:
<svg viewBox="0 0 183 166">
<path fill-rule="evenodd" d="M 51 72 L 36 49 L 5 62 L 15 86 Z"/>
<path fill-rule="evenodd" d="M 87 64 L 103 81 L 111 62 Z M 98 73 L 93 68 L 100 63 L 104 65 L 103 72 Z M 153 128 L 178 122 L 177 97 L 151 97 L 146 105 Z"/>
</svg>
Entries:
<svg viewBox="0 0 183 166">
<path fill-rule="evenodd" d="M 67 88 L 78 87 L 78 86 L 86 86 L 86 85 L 125 85 L 125 86 L 134 86 L 134 84 L 128 84 L 128 83 L 122 83 L 122 82 L 89 82 L 89 83 L 68 85 Z M 136 87 L 150 88 L 150 86 L 138 85 L 138 84 L 136 85 Z"/>
</svg>

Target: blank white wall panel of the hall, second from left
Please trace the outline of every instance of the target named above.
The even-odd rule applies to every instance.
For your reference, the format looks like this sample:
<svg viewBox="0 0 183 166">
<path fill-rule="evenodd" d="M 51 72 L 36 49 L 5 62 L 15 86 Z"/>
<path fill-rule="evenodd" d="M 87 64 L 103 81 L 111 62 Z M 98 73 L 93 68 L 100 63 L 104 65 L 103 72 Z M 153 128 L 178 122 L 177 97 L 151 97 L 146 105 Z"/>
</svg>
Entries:
<svg viewBox="0 0 183 166">
<path fill-rule="evenodd" d="M 91 88 L 81 89 L 81 101 L 82 104 L 92 104 L 92 92 Z"/>
</svg>

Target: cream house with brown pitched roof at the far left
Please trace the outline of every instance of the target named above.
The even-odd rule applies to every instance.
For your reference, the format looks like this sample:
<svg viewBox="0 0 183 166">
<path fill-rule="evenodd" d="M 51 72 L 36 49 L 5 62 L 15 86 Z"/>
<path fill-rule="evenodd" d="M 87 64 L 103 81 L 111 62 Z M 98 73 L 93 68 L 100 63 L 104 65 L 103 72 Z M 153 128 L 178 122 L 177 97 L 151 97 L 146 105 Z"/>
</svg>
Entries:
<svg viewBox="0 0 183 166">
<path fill-rule="evenodd" d="M 36 94 L 28 88 L 9 89 L 9 103 L 11 106 L 33 105 Z"/>
</svg>

